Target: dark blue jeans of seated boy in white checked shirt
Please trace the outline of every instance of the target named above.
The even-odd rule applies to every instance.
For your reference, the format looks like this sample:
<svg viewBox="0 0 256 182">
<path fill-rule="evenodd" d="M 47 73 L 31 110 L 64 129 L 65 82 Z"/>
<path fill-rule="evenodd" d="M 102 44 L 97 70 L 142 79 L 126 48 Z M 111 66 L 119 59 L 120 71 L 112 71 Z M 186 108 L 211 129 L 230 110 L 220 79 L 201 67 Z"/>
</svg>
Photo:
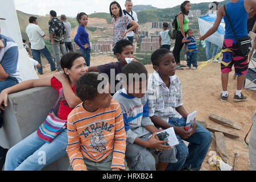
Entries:
<svg viewBox="0 0 256 182">
<path fill-rule="evenodd" d="M 173 126 L 185 126 L 185 118 L 169 118 L 169 124 Z M 177 163 L 169 164 L 167 170 L 179 171 L 181 167 L 190 168 L 193 170 L 200 170 L 202 163 L 204 162 L 205 156 L 209 150 L 210 144 L 212 143 L 212 135 L 204 127 L 197 124 L 196 133 L 191 137 L 184 139 L 189 142 L 188 147 L 185 145 L 183 140 L 176 135 L 179 140 L 176 150 Z"/>
</svg>

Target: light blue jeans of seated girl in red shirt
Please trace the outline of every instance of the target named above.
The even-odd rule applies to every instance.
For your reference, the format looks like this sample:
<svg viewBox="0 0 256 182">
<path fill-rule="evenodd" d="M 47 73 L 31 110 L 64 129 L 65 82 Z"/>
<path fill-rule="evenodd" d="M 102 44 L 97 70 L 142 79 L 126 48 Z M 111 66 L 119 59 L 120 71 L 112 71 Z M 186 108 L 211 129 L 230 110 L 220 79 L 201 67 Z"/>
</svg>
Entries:
<svg viewBox="0 0 256 182">
<path fill-rule="evenodd" d="M 10 148 L 6 155 L 5 171 L 40 171 L 67 155 L 67 145 L 67 129 L 51 143 L 44 142 L 35 131 Z"/>
</svg>

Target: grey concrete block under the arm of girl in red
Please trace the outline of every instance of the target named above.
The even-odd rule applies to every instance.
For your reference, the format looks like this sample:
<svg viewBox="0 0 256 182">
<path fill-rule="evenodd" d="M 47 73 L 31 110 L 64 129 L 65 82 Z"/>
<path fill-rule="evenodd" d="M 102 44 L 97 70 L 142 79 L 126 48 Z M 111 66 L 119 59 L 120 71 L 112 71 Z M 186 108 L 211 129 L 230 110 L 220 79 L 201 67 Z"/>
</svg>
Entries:
<svg viewBox="0 0 256 182">
<path fill-rule="evenodd" d="M 57 97 L 57 91 L 51 86 L 10 94 L 4 114 L 4 125 L 0 129 L 0 146 L 11 148 L 34 133 L 46 119 Z M 68 166 L 68 156 L 64 156 L 44 170 L 67 170 Z"/>
</svg>

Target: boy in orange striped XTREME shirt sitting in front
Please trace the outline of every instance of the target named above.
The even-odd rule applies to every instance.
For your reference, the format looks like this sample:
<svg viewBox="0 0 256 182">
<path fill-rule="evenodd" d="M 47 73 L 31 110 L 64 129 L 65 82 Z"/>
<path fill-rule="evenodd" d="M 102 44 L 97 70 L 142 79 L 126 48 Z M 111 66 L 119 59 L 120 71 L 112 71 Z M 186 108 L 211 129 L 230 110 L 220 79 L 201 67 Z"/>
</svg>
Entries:
<svg viewBox="0 0 256 182">
<path fill-rule="evenodd" d="M 84 102 L 68 115 L 69 162 L 75 171 L 125 170 L 126 132 L 121 107 L 110 92 L 98 93 L 102 81 L 97 78 L 98 73 L 86 73 L 76 82 L 76 95 Z M 106 88 L 110 89 L 109 84 Z"/>
</svg>

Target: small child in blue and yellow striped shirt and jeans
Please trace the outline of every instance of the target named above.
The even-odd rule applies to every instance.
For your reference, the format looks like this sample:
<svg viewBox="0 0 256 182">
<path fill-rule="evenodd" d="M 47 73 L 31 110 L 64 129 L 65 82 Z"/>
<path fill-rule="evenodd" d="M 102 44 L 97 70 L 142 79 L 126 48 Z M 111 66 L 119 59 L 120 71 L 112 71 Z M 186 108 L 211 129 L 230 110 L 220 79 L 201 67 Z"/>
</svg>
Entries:
<svg viewBox="0 0 256 182">
<path fill-rule="evenodd" d="M 196 69 L 197 68 L 197 46 L 196 46 L 196 38 L 191 28 L 188 29 L 188 38 L 187 40 L 185 40 L 184 54 L 187 55 L 187 69 L 191 68 L 191 64 L 193 65 L 192 69 Z"/>
</svg>

